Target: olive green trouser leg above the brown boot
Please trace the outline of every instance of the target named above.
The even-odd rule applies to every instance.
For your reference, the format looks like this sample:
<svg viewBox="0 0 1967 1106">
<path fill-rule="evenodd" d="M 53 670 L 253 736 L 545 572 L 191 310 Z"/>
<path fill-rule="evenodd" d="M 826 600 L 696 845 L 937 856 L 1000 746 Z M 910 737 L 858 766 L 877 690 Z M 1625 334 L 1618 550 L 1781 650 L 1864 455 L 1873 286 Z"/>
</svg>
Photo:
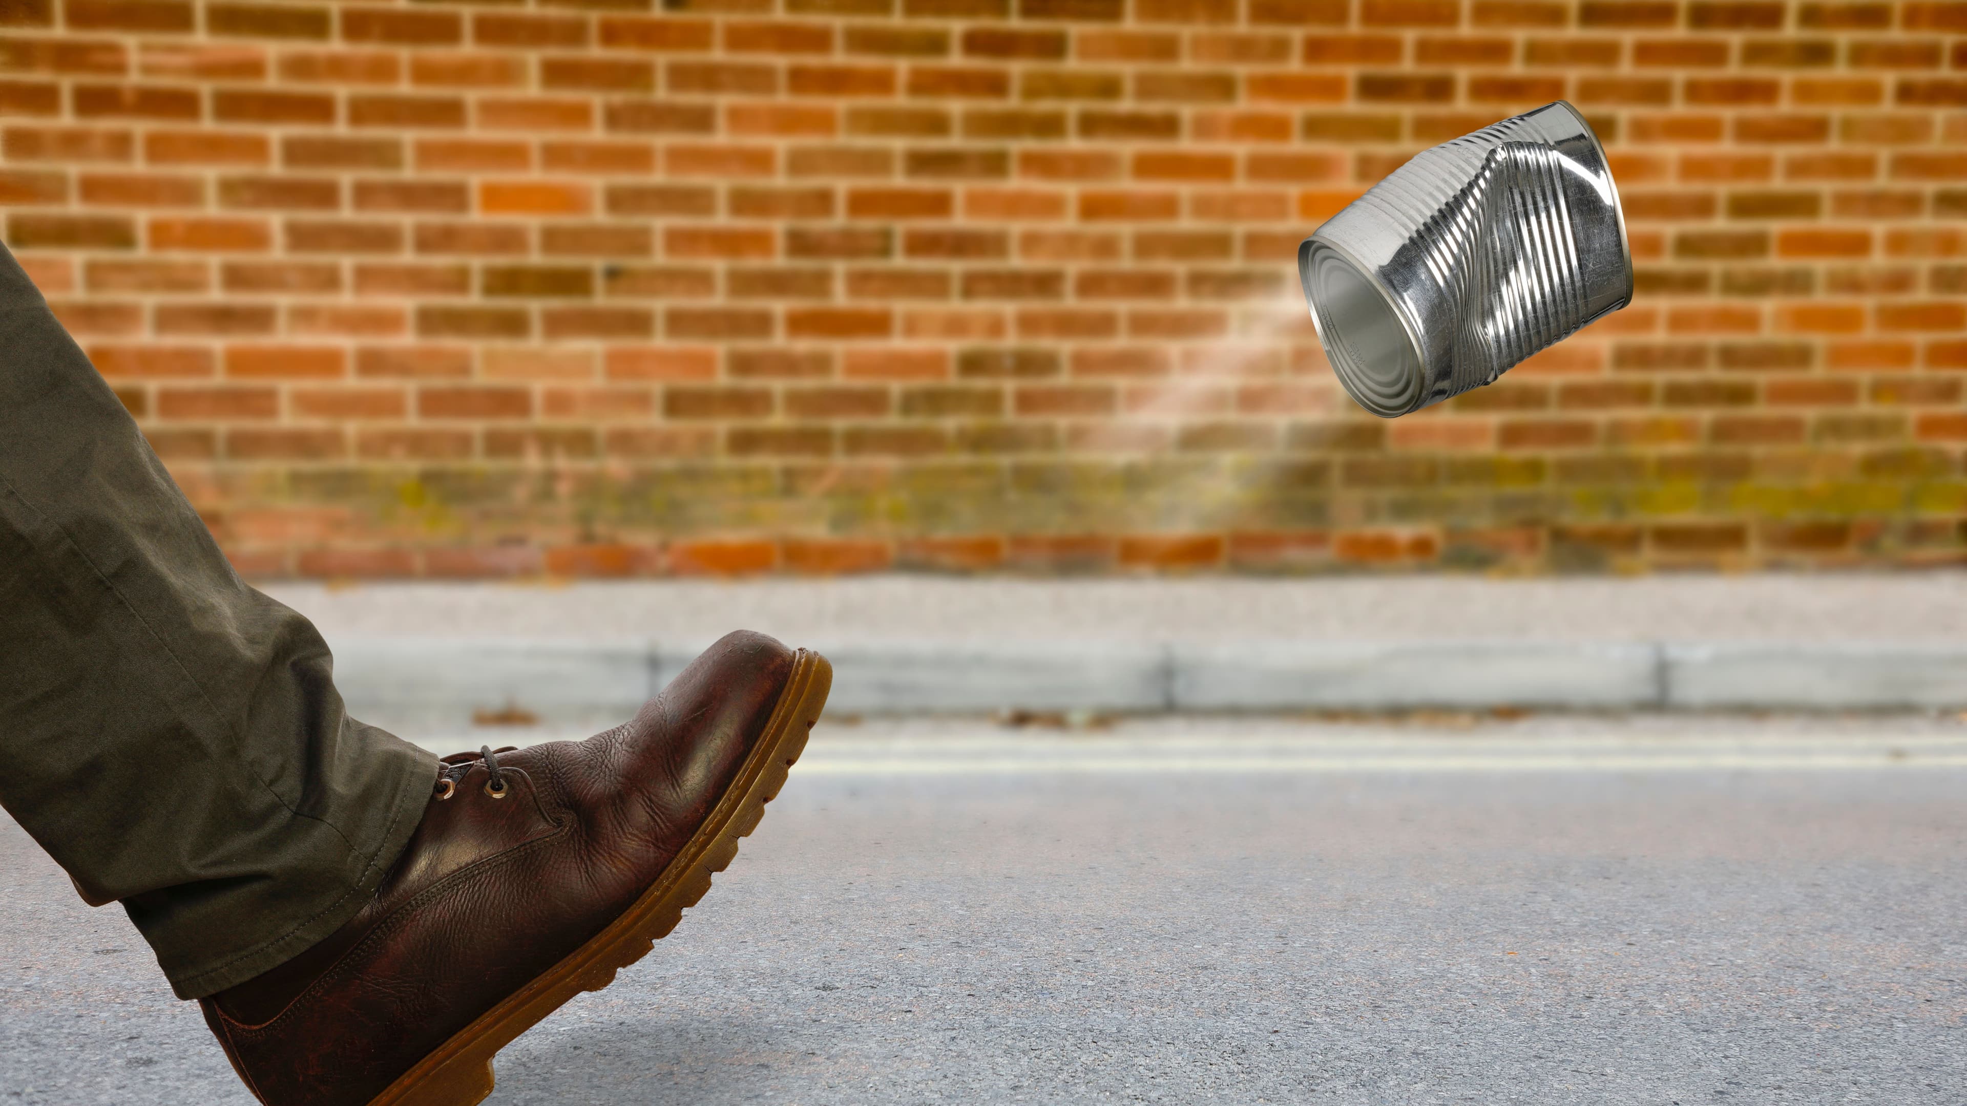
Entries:
<svg viewBox="0 0 1967 1106">
<path fill-rule="evenodd" d="M 342 710 L 0 248 L 0 805 L 201 998 L 348 921 L 435 777 Z"/>
</svg>

